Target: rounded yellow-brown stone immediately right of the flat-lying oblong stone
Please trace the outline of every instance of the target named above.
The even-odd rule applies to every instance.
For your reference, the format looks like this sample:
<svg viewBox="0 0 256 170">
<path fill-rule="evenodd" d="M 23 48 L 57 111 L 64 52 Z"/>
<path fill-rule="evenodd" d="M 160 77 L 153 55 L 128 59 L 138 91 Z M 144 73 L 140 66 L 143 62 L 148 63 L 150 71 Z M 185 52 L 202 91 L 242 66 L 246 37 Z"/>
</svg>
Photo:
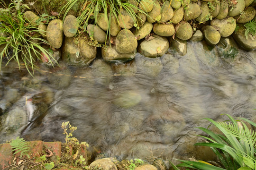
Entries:
<svg viewBox="0 0 256 170">
<path fill-rule="evenodd" d="M 180 23 L 176 26 L 175 36 L 182 40 L 188 40 L 192 37 L 193 30 L 191 25 L 188 22 Z"/>
</svg>

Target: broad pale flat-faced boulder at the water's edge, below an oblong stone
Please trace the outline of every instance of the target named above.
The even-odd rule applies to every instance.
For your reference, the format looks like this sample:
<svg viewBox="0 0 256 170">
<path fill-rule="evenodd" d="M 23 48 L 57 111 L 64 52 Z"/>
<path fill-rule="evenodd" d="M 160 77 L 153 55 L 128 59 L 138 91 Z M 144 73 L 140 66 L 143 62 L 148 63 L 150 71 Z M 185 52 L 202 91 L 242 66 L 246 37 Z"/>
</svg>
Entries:
<svg viewBox="0 0 256 170">
<path fill-rule="evenodd" d="M 154 38 L 150 41 L 144 40 L 140 43 L 138 51 L 149 58 L 161 57 L 169 48 L 169 42 L 167 38 L 159 35 L 152 35 Z"/>
</svg>

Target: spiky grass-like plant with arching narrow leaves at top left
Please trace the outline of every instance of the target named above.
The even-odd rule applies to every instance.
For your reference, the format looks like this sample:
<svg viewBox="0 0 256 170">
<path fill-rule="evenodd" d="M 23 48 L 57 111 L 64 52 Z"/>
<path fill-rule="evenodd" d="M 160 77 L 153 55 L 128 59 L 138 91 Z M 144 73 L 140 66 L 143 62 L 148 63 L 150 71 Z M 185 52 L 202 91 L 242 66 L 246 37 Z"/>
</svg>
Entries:
<svg viewBox="0 0 256 170">
<path fill-rule="evenodd" d="M 16 0 L 10 3 L 8 8 L 0 8 L 0 47 L 3 49 L 0 51 L 0 68 L 3 60 L 7 60 L 6 65 L 15 60 L 19 69 L 23 64 L 29 74 L 33 75 L 36 60 L 44 54 L 51 62 L 51 55 L 42 47 L 49 43 L 40 36 L 35 36 L 42 30 L 32 26 L 23 17 L 22 7 L 24 6 L 21 1 Z"/>
</svg>

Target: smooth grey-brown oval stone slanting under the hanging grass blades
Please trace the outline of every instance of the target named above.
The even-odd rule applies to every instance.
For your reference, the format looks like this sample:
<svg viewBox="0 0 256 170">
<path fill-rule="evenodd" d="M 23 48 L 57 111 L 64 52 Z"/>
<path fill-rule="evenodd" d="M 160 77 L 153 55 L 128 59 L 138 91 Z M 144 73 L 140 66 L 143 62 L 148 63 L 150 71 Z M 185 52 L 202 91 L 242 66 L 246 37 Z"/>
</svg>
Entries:
<svg viewBox="0 0 256 170">
<path fill-rule="evenodd" d="M 94 40 L 97 42 L 105 42 L 106 40 L 106 33 L 100 28 L 100 26 L 94 26 L 89 24 L 87 26 L 87 31 L 90 36 L 93 37 Z"/>
</svg>

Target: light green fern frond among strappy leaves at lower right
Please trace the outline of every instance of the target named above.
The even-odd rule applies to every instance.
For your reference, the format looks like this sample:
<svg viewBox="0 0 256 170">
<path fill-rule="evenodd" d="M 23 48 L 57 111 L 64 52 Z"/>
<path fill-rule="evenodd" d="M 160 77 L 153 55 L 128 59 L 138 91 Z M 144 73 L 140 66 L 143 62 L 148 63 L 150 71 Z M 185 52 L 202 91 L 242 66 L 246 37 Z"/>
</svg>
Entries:
<svg viewBox="0 0 256 170">
<path fill-rule="evenodd" d="M 256 146 L 256 132 L 251 131 L 248 128 L 238 127 L 233 123 L 218 122 L 221 127 L 223 127 L 229 135 L 238 138 L 240 141 L 247 142 Z M 245 125 L 246 126 L 246 125 Z"/>
</svg>

